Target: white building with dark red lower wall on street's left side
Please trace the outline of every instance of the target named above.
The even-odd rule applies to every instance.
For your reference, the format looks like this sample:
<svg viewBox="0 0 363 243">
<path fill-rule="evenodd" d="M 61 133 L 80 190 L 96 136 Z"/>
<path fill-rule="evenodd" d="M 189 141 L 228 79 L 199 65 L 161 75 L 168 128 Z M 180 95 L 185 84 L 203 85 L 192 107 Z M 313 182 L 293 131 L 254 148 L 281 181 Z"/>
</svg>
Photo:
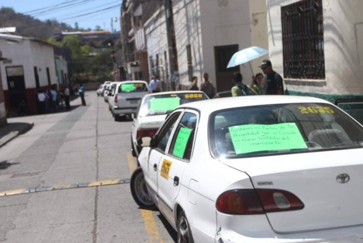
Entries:
<svg viewBox="0 0 363 243">
<path fill-rule="evenodd" d="M 36 90 L 56 88 L 53 48 L 46 41 L 0 34 L 0 50 L 8 58 L 0 66 L 7 110 L 17 111 L 19 102 L 24 99 L 29 114 L 36 114 Z"/>
</svg>

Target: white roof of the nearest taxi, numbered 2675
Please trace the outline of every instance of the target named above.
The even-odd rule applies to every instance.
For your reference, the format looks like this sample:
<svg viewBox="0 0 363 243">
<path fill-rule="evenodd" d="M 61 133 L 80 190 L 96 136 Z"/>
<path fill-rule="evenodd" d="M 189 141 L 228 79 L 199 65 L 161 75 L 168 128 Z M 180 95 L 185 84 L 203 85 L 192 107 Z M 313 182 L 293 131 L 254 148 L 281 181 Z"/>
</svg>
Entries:
<svg viewBox="0 0 363 243">
<path fill-rule="evenodd" d="M 228 97 L 210 100 L 201 100 L 191 103 L 182 104 L 178 108 L 188 107 L 197 110 L 212 113 L 217 110 L 224 110 L 228 108 L 247 107 L 247 106 L 261 106 L 269 104 L 286 104 L 286 103 L 327 103 L 330 102 L 309 97 L 309 96 L 294 96 L 294 95 L 248 95 L 239 97 Z"/>
</svg>

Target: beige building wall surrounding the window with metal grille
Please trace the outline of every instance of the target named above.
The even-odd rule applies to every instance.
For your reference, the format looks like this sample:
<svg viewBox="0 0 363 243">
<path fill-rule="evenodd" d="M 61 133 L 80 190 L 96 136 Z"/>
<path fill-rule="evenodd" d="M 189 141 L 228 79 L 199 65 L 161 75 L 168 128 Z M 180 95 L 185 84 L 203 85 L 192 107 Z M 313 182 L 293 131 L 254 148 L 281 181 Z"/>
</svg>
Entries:
<svg viewBox="0 0 363 243">
<path fill-rule="evenodd" d="M 284 74 L 281 6 L 297 0 L 267 0 L 269 56 L 274 70 Z M 323 0 L 325 80 L 284 79 L 289 91 L 329 95 L 362 95 L 363 1 Z"/>
</svg>

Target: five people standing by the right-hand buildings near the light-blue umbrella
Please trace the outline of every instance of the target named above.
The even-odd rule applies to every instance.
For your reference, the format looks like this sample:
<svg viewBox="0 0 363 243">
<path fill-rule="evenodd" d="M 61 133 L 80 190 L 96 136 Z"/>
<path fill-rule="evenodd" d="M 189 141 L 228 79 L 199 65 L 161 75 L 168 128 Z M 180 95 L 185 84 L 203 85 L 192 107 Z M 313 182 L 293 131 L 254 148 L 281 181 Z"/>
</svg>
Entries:
<svg viewBox="0 0 363 243">
<path fill-rule="evenodd" d="M 237 72 L 233 74 L 233 87 L 231 88 L 232 96 L 284 94 L 284 83 L 282 82 L 282 77 L 272 69 L 272 63 L 270 60 L 262 61 L 259 67 L 265 75 L 262 73 L 254 75 L 250 86 L 242 83 L 243 76 L 241 73 Z M 209 98 L 212 99 L 216 94 L 215 88 L 209 80 L 208 73 L 204 73 L 203 78 L 204 81 L 201 83 L 199 89 L 197 86 L 198 78 L 194 76 L 192 78 L 190 90 L 203 91 Z"/>
</svg>

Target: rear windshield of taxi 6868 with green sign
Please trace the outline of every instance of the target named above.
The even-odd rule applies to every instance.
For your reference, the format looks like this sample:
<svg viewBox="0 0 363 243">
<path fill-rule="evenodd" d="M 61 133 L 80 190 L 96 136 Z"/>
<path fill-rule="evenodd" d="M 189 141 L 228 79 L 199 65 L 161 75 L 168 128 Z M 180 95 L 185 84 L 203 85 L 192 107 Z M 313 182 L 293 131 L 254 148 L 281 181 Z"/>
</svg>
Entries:
<svg viewBox="0 0 363 243">
<path fill-rule="evenodd" d="M 164 115 L 172 112 L 181 104 L 205 100 L 203 92 L 185 92 L 177 94 L 160 94 L 148 96 L 140 107 L 140 116 Z"/>
</svg>

